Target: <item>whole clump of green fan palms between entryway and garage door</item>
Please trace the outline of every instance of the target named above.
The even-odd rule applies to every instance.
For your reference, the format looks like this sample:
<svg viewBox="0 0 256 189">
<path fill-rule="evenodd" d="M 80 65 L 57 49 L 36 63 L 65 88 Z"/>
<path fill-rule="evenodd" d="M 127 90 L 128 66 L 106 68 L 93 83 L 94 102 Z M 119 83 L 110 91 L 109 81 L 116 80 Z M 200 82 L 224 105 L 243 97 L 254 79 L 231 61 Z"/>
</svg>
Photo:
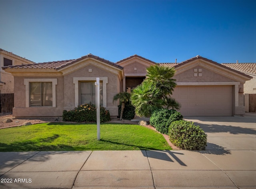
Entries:
<svg viewBox="0 0 256 189">
<path fill-rule="evenodd" d="M 171 98 L 176 87 L 174 68 L 158 65 L 147 68 L 146 79 L 132 91 L 131 102 L 138 116 L 149 117 L 159 108 L 179 109 L 180 104 Z"/>
</svg>

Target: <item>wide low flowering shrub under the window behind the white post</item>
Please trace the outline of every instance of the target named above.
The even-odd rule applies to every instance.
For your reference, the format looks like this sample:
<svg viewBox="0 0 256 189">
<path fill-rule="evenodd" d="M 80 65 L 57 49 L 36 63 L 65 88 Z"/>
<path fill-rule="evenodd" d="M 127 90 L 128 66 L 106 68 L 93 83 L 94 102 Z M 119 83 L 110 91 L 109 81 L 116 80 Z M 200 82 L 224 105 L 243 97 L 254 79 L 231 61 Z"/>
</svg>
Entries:
<svg viewBox="0 0 256 189">
<path fill-rule="evenodd" d="M 96 122 L 97 111 L 95 104 L 82 104 L 74 110 L 64 110 L 62 114 L 63 121 L 72 122 Z M 100 106 L 100 122 L 110 121 L 110 113 L 104 107 Z"/>
</svg>

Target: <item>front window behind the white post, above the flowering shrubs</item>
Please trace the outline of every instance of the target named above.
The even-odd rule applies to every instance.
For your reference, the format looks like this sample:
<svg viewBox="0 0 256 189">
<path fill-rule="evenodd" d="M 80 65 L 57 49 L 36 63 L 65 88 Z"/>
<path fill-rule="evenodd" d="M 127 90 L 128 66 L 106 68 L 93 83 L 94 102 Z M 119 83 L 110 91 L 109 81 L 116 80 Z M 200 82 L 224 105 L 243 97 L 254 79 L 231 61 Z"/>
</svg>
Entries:
<svg viewBox="0 0 256 189">
<path fill-rule="evenodd" d="M 95 81 L 81 81 L 80 104 L 95 104 Z M 103 83 L 100 81 L 100 105 L 103 105 Z"/>
</svg>

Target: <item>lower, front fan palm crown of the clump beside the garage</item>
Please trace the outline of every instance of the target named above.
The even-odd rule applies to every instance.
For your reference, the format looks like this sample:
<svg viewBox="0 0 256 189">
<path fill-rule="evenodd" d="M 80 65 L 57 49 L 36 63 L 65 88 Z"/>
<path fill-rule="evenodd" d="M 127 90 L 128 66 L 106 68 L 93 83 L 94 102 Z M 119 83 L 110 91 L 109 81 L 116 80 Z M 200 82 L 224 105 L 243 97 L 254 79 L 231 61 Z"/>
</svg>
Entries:
<svg viewBox="0 0 256 189">
<path fill-rule="evenodd" d="M 154 110 L 163 105 L 160 89 L 154 83 L 144 80 L 132 90 L 131 102 L 137 116 L 150 117 Z"/>
</svg>

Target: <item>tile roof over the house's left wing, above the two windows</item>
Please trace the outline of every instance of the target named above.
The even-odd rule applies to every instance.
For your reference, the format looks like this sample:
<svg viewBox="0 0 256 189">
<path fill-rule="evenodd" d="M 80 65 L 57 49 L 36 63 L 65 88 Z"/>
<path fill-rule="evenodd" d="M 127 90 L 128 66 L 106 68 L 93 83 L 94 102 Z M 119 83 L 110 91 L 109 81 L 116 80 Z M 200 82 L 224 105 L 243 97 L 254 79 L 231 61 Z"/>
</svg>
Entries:
<svg viewBox="0 0 256 189">
<path fill-rule="evenodd" d="M 43 63 L 34 63 L 34 64 L 27 64 L 27 65 L 12 65 L 12 66 L 5 66 L 5 67 L 2 67 L 3 69 L 6 69 L 6 68 L 20 68 L 20 69 L 61 69 L 63 67 L 66 67 L 68 65 L 71 65 L 77 61 L 80 61 L 82 59 L 85 59 L 85 58 L 94 58 L 94 59 L 97 59 L 99 61 L 102 61 L 104 63 L 107 63 L 109 65 L 112 65 L 114 67 L 118 67 L 119 69 L 123 69 L 122 66 L 120 65 L 117 65 L 113 62 L 110 62 L 108 60 L 105 60 L 103 58 L 100 58 L 98 56 L 95 56 L 95 55 L 92 55 L 92 54 L 88 54 L 88 55 L 85 55 L 81 58 L 78 58 L 78 59 L 70 59 L 70 60 L 62 60 L 62 61 L 53 61 L 53 62 L 43 62 Z"/>
</svg>

